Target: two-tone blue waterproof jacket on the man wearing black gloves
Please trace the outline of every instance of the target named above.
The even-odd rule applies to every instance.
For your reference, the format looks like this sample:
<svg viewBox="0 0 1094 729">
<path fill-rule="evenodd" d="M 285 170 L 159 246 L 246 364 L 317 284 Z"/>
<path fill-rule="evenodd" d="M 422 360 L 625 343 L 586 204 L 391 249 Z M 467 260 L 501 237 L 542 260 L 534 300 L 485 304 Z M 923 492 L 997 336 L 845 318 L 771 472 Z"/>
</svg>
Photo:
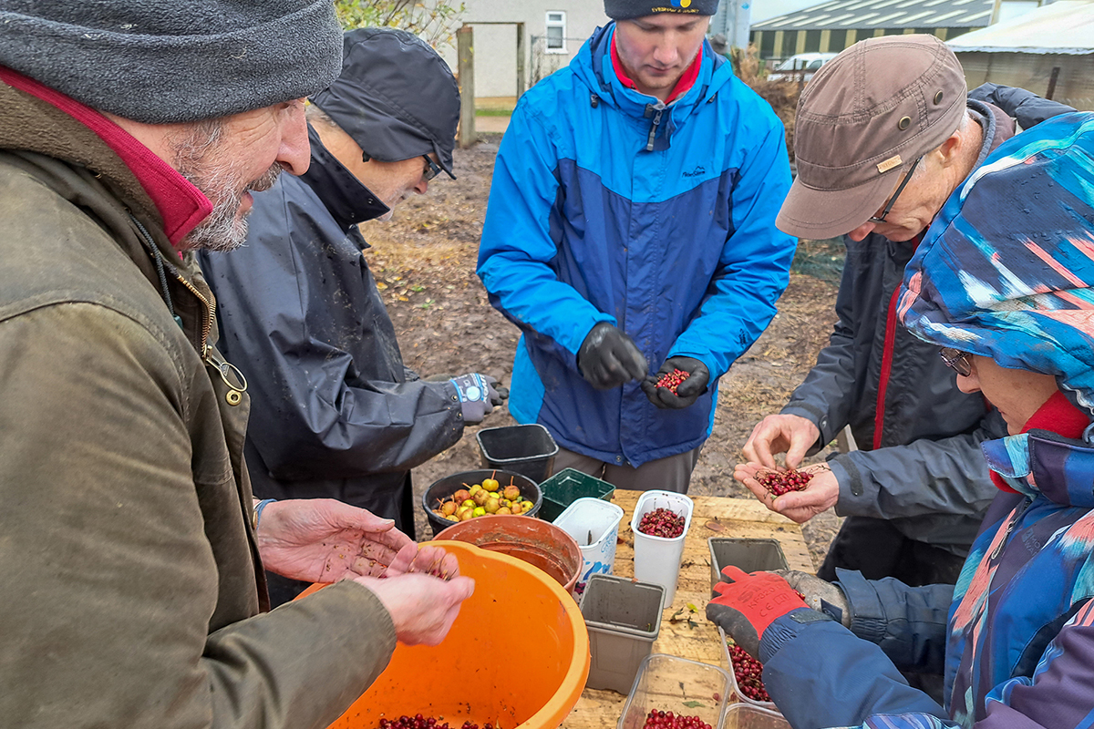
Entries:
<svg viewBox="0 0 1094 729">
<path fill-rule="evenodd" d="M 770 106 L 706 43 L 698 79 L 672 104 L 628 90 L 612 69 L 614 31 L 597 30 L 517 104 L 478 274 L 523 330 L 513 416 L 638 467 L 709 436 L 718 378 L 775 316 L 795 242 L 775 227 L 790 169 Z M 600 321 L 626 331 L 651 373 L 670 356 L 701 360 L 709 391 L 665 411 L 638 383 L 594 389 L 577 353 Z"/>
</svg>

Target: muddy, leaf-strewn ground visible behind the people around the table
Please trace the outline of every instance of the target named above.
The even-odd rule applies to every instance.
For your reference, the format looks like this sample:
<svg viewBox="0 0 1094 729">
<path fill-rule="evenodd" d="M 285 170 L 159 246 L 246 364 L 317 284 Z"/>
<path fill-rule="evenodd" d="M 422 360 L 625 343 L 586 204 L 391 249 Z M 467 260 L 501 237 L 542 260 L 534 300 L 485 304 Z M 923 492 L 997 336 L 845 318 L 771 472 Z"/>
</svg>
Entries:
<svg viewBox="0 0 1094 729">
<path fill-rule="evenodd" d="M 422 377 L 478 372 L 507 385 L 510 379 L 519 331 L 490 306 L 475 274 L 499 139 L 456 150 L 458 179 L 438 178 L 427 195 L 399 204 L 392 221 L 362 225 L 372 245 L 365 256 L 395 322 L 403 358 Z M 799 258 L 810 260 L 833 258 L 827 252 L 799 247 Z M 741 447 L 753 426 L 779 411 L 827 343 L 837 287 L 828 278 L 791 273 L 779 314 L 722 377 L 714 431 L 691 477 L 693 495 L 753 497 L 733 480 L 733 467 L 742 460 Z M 480 468 L 476 431 L 514 423 L 503 405 L 482 425 L 468 426 L 459 443 L 414 470 L 417 497 L 440 478 Z M 808 462 L 823 460 L 829 449 Z M 424 513 L 417 512 L 418 537 L 428 539 Z M 815 564 L 821 564 L 838 524 L 828 512 L 805 525 Z"/>
</svg>

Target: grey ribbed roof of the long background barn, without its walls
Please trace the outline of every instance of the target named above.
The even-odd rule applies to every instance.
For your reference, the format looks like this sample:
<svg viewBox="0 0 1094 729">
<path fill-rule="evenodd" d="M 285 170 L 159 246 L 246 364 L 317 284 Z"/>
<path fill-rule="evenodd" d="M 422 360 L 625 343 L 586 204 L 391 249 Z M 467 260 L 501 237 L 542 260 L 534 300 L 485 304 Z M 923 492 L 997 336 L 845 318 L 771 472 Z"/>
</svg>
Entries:
<svg viewBox="0 0 1094 729">
<path fill-rule="evenodd" d="M 753 31 L 984 27 L 993 0 L 831 0 L 753 23 Z"/>
</svg>

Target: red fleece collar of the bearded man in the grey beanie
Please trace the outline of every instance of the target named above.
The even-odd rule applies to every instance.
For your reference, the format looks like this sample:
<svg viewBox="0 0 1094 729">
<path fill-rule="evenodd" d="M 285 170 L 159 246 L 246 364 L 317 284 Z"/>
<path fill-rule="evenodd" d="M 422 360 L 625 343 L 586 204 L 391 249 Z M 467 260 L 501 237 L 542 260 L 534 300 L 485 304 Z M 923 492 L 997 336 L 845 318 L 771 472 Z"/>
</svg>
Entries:
<svg viewBox="0 0 1094 729">
<path fill-rule="evenodd" d="M 212 212 L 212 203 L 201 190 L 95 109 L 9 68 L 0 67 L 0 80 L 68 114 L 114 150 L 155 203 L 171 245 L 177 246 Z"/>
</svg>

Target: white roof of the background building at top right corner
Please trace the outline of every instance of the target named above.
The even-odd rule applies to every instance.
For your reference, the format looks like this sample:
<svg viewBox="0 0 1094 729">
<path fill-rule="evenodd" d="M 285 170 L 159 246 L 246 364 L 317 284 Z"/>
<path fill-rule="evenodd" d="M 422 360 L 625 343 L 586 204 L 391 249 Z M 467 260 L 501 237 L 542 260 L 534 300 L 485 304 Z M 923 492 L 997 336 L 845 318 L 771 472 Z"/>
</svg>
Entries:
<svg viewBox="0 0 1094 729">
<path fill-rule="evenodd" d="M 966 33 L 948 45 L 955 54 L 1094 54 L 1094 1 L 1058 0 Z"/>
</svg>

